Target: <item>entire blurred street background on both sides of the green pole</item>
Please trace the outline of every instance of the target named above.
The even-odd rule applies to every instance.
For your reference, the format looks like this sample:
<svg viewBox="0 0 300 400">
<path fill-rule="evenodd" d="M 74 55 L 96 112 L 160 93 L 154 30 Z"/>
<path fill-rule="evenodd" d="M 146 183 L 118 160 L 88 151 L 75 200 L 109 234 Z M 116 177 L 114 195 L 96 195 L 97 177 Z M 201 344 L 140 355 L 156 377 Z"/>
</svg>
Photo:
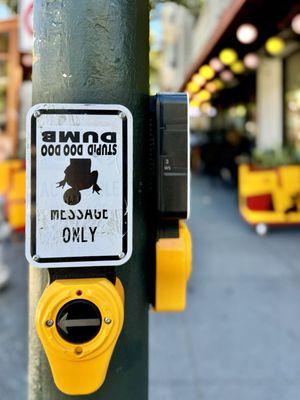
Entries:
<svg viewBox="0 0 300 400">
<path fill-rule="evenodd" d="M 0 1 L 0 399 L 26 399 L 32 0 Z M 300 398 L 300 2 L 151 1 L 151 93 L 190 99 L 193 274 L 150 399 Z M 172 338 L 172 340 L 170 340 Z"/>
</svg>

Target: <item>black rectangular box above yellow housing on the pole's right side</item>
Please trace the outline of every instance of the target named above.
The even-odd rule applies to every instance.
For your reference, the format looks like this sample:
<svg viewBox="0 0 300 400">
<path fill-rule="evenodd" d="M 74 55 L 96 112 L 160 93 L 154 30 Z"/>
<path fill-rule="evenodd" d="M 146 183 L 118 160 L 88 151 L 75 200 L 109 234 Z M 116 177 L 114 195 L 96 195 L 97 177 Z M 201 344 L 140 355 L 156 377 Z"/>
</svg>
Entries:
<svg viewBox="0 0 300 400">
<path fill-rule="evenodd" d="M 156 95 L 157 189 L 161 219 L 186 219 L 189 212 L 189 123 L 185 93 Z"/>
</svg>

